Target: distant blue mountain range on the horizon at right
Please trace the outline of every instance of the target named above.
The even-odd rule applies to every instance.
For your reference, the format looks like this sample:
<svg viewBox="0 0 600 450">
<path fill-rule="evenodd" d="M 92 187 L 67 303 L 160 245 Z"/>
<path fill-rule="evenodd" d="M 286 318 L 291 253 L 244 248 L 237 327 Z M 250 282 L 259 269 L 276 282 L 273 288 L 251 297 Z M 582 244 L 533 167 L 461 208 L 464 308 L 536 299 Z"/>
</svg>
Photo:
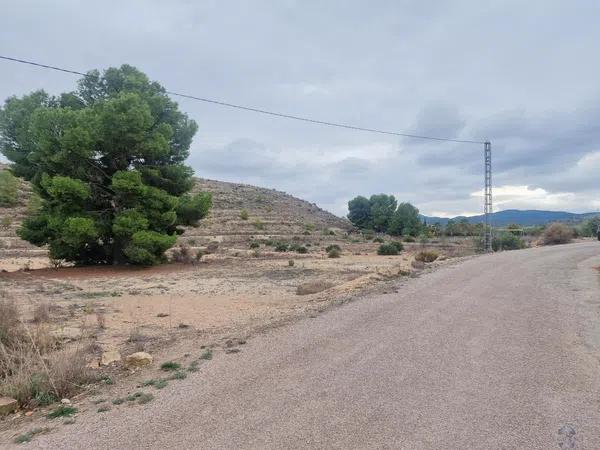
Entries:
<svg viewBox="0 0 600 450">
<path fill-rule="evenodd" d="M 519 209 L 507 209 L 505 211 L 498 211 L 492 214 L 492 223 L 497 227 L 504 227 L 511 223 L 517 223 L 524 226 L 532 225 L 544 225 L 549 222 L 581 222 L 584 219 L 599 216 L 600 212 L 575 214 L 564 211 L 538 211 L 536 209 L 519 210 Z M 434 224 L 439 222 L 442 225 L 448 223 L 448 217 L 427 217 L 423 216 L 427 223 Z M 479 216 L 457 216 L 452 217 L 452 220 L 459 221 L 461 219 L 467 219 L 469 223 L 482 223 L 485 221 L 483 214 Z"/>
</svg>

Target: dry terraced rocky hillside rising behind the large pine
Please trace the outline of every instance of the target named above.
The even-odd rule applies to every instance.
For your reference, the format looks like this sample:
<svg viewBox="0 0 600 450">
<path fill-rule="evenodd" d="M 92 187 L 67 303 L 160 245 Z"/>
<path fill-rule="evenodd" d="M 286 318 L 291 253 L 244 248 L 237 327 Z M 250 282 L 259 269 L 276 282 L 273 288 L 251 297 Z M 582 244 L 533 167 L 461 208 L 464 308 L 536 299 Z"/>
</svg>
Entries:
<svg viewBox="0 0 600 450">
<path fill-rule="evenodd" d="M 0 164 L 0 170 L 6 167 Z M 274 189 L 196 178 L 194 191 L 212 193 L 213 208 L 198 228 L 188 228 L 181 237 L 182 241 L 192 246 L 218 242 L 221 248 L 247 248 L 251 239 L 301 237 L 303 241 L 309 241 L 313 232 L 316 237 L 323 230 L 352 229 L 348 220 L 339 218 L 314 203 Z M 9 226 L 0 228 L 0 252 L 4 256 L 45 252 L 21 240 L 16 234 L 26 215 L 30 196 L 30 186 L 21 182 L 19 204 L 11 208 L 0 208 L 0 217 L 12 219 Z M 248 212 L 247 220 L 241 218 L 242 209 Z"/>
</svg>

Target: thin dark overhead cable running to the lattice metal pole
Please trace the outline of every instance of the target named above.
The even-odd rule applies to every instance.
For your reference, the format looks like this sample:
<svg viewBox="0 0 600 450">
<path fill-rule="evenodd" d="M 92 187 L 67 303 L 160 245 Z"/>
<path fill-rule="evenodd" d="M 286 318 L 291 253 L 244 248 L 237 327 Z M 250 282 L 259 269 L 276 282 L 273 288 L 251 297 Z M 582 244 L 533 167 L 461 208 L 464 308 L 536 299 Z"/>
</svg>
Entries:
<svg viewBox="0 0 600 450">
<path fill-rule="evenodd" d="M 78 72 L 76 70 L 69 70 L 69 69 L 65 69 L 65 68 L 57 67 L 57 66 L 49 66 L 47 64 L 41 64 L 41 63 L 37 63 L 34 61 L 27 61 L 24 59 L 11 58 L 9 56 L 0 55 L 0 59 L 12 61 L 12 62 L 18 62 L 21 64 L 28 64 L 30 66 L 41 67 L 44 69 L 56 70 L 59 72 L 71 73 L 74 75 L 81 75 L 84 77 L 89 76 L 89 74 L 86 74 L 83 72 Z M 274 112 L 274 111 L 268 111 L 265 109 L 253 108 L 250 106 L 236 105 L 234 103 L 227 103 L 227 102 L 214 100 L 214 99 L 210 99 L 210 98 L 196 97 L 194 95 L 182 94 L 179 92 L 166 91 L 166 93 L 169 95 L 174 95 L 177 97 L 187 98 L 187 99 L 191 99 L 191 100 L 197 100 L 197 101 L 204 102 L 204 103 L 211 103 L 214 105 L 225 106 L 228 108 L 240 109 L 243 111 L 250 111 L 250 112 L 255 112 L 255 113 L 259 113 L 259 114 L 275 116 L 275 117 L 283 117 L 285 119 L 299 120 L 302 122 L 309 122 L 309 123 L 325 125 L 325 126 L 329 126 L 329 127 L 345 128 L 345 129 L 355 130 L 355 131 L 366 131 L 368 133 L 386 134 L 386 135 L 391 135 L 391 136 L 401 136 L 401 137 L 407 137 L 407 138 L 413 138 L 413 139 L 427 139 L 430 141 L 459 142 L 462 144 L 484 144 L 485 143 L 484 141 L 473 141 L 473 140 L 466 140 L 466 139 L 450 139 L 450 138 L 442 138 L 442 137 L 434 137 L 434 136 L 421 136 L 421 135 L 417 135 L 417 134 L 398 133 L 398 132 L 394 132 L 394 131 L 378 130 L 375 128 L 357 127 L 357 126 L 347 125 L 347 124 L 342 124 L 342 123 L 326 122 L 323 120 L 310 119 L 308 117 L 294 116 L 291 114 L 283 114 L 283 113 L 278 113 L 278 112 Z"/>
</svg>

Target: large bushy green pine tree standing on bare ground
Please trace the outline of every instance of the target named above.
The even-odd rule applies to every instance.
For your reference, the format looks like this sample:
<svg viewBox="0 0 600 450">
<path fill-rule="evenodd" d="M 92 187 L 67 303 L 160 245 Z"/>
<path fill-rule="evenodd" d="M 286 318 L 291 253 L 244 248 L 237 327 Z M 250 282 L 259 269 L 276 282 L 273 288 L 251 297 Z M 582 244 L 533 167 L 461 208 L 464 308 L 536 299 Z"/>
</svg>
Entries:
<svg viewBox="0 0 600 450">
<path fill-rule="evenodd" d="M 124 65 L 76 91 L 10 97 L 0 151 L 41 199 L 19 230 L 76 264 L 156 264 L 211 205 L 184 164 L 197 125 L 156 82 Z"/>
</svg>

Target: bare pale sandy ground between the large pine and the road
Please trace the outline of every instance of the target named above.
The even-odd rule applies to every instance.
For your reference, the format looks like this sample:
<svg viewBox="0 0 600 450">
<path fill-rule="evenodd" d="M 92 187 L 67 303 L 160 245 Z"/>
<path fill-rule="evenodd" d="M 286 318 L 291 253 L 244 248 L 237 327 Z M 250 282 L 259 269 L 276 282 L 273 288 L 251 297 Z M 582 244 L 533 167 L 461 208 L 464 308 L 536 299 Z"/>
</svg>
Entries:
<svg viewBox="0 0 600 450">
<path fill-rule="evenodd" d="M 244 332 L 319 309 L 315 304 L 408 273 L 413 270 L 412 259 L 411 252 L 346 254 L 338 259 L 297 254 L 210 255 L 197 265 L 4 272 L 0 273 L 0 291 L 18 300 L 27 319 L 33 317 L 36 306 L 50 305 L 55 332 L 66 341 L 83 335 L 93 336 L 105 350 L 126 347 L 131 341 L 138 342 L 138 349 L 150 349 L 163 336 Z M 294 261 L 291 267 L 290 260 Z M 44 266 L 42 258 L 28 261 L 34 267 Z M 4 261 L 0 269 L 17 263 Z M 331 287 L 297 295 L 297 287 L 307 282 Z"/>
</svg>

